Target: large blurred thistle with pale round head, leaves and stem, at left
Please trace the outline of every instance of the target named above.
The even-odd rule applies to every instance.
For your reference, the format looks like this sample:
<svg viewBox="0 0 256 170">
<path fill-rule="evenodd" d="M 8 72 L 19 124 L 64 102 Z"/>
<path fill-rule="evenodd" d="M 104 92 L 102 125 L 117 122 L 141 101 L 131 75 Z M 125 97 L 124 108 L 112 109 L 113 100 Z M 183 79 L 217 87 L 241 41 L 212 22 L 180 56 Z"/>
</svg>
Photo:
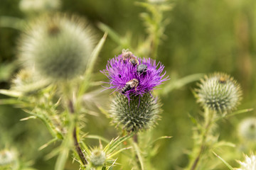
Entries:
<svg viewBox="0 0 256 170">
<path fill-rule="evenodd" d="M 82 19 L 58 13 L 37 18 L 19 41 L 18 57 L 25 68 L 17 74 L 10 90 L 1 90 L 1 94 L 16 100 L 1 103 L 23 108 L 31 115 L 23 120 L 43 121 L 53 140 L 41 149 L 61 141 L 50 154 L 58 155 L 55 169 L 64 169 L 70 150 L 75 152 L 81 169 L 88 164 L 80 145 L 78 120 L 84 111 L 82 95 L 90 86 L 92 67 L 105 38 L 93 50 L 94 40 Z"/>
</svg>

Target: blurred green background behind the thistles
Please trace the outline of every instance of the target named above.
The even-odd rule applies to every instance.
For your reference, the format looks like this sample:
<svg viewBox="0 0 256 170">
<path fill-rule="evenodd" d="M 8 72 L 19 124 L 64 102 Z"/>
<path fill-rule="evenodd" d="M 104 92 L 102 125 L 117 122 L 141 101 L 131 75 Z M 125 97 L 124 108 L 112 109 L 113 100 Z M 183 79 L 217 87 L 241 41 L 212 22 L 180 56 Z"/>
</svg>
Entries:
<svg viewBox="0 0 256 170">
<path fill-rule="evenodd" d="M 126 35 L 127 32 L 131 33 L 134 38 L 132 42 L 136 44 L 137 37 L 146 36 L 144 24 L 139 18 L 139 13 L 145 12 L 145 9 L 135 5 L 134 2 L 134 0 L 63 0 L 60 11 L 87 18 L 94 26 L 99 39 L 103 33 L 97 28 L 97 23 L 102 22 L 121 36 Z M 171 77 L 166 84 L 190 74 L 226 72 L 237 79 L 242 86 L 243 100 L 238 108 L 254 108 L 256 1 L 176 0 L 171 2 L 174 8 L 164 13 L 170 23 L 166 27 L 166 37 L 161 41 L 157 57 L 157 61 L 161 61 L 166 66 L 166 74 Z M 18 8 L 18 3 L 18 0 L 1 0 L 0 17 L 28 19 L 28 16 Z M 20 34 L 20 30 L 0 25 L 1 89 L 9 89 L 10 80 L 19 69 L 15 61 Z M 107 60 L 121 53 L 115 51 L 116 47 L 117 44 L 108 37 L 97 61 L 95 72 L 105 69 Z M 99 79 L 106 80 L 100 72 Z M 193 145 L 193 123 L 188 115 L 201 118 L 201 108 L 191 92 L 195 87 L 196 82 L 175 89 L 161 98 L 164 113 L 161 114 L 159 125 L 153 130 L 154 137 L 170 135 L 173 138 L 159 141 L 159 153 L 152 160 L 156 169 L 178 169 L 188 163 L 186 152 Z M 102 102 L 106 102 L 107 105 L 108 101 Z M 218 122 L 220 140 L 235 142 L 238 146 L 229 149 L 230 152 L 238 154 L 229 155 L 220 152 L 223 154 L 221 156 L 234 166 L 238 166 L 234 160 L 241 159 L 242 152 L 250 153 L 250 148 L 240 147 L 243 144 L 237 134 L 238 123 L 242 118 L 253 115 L 255 111 Z M 45 155 L 54 146 L 38 151 L 38 147 L 50 140 L 50 134 L 39 120 L 19 121 L 26 116 L 27 114 L 20 109 L 0 106 L 0 149 L 14 147 L 21 159 L 33 160 L 34 168 L 53 169 L 55 159 L 46 160 Z M 88 116 L 86 131 L 108 139 L 116 136 L 114 128 L 103 114 L 97 117 Z M 97 145 L 97 140 L 91 141 L 91 145 L 94 143 Z M 55 145 L 57 146 L 58 143 Z M 255 148 L 255 145 L 252 149 L 253 147 Z M 228 169 L 218 159 L 217 162 L 220 164 L 219 169 Z M 66 167 L 66 169 L 77 169 L 75 164 L 71 164 L 71 160 Z"/>
</svg>

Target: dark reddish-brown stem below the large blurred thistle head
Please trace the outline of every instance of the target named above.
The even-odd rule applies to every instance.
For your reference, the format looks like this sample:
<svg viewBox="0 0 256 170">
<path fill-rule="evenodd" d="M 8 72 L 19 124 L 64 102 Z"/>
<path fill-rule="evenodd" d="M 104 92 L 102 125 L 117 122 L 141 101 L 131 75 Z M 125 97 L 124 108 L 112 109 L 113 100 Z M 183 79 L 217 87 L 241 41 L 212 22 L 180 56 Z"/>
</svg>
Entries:
<svg viewBox="0 0 256 170">
<path fill-rule="evenodd" d="M 71 114 L 75 114 L 75 108 L 71 100 L 68 101 L 68 108 Z M 82 153 L 82 149 L 79 145 L 76 126 L 73 130 L 73 140 L 74 140 L 75 150 L 76 152 L 78 152 L 78 156 L 80 157 L 82 164 L 86 165 L 88 162 L 87 162 L 87 159 L 85 158 L 85 154 Z"/>
</svg>

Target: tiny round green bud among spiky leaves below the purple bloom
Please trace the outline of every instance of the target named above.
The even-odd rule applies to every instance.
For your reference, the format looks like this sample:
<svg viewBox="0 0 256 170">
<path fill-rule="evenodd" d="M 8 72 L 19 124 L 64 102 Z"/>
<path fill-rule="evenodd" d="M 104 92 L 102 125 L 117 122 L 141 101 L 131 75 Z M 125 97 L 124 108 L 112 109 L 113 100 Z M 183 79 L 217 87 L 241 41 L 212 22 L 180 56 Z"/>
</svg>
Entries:
<svg viewBox="0 0 256 170">
<path fill-rule="evenodd" d="M 91 151 L 90 162 L 93 166 L 102 166 L 106 161 L 106 153 L 102 149 L 95 148 Z"/>
</svg>

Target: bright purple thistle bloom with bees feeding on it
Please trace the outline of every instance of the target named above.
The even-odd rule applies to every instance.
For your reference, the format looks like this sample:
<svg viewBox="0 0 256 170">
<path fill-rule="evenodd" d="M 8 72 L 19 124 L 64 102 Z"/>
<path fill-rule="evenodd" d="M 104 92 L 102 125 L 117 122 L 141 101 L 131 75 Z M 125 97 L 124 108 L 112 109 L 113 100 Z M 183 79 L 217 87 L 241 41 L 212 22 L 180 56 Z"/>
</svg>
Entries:
<svg viewBox="0 0 256 170">
<path fill-rule="evenodd" d="M 100 71 L 110 79 L 110 82 L 107 82 L 107 84 L 110 84 L 110 87 L 107 87 L 107 89 L 116 89 L 115 91 L 123 92 L 122 94 L 129 99 L 129 96 L 132 94 L 143 96 L 143 94 L 150 93 L 156 86 L 168 80 L 168 77 L 163 78 L 166 72 L 161 74 L 164 70 L 164 65 L 161 62 L 156 64 L 156 60 L 151 58 L 137 58 L 139 64 L 145 64 L 147 66 L 145 72 L 139 73 L 137 72 L 138 64 L 129 62 L 131 57 L 124 59 L 123 54 L 110 59 L 107 62 L 106 69 Z M 133 55 L 132 57 L 135 56 Z M 137 79 L 139 84 L 124 93 L 122 89 L 132 79 Z"/>
</svg>

